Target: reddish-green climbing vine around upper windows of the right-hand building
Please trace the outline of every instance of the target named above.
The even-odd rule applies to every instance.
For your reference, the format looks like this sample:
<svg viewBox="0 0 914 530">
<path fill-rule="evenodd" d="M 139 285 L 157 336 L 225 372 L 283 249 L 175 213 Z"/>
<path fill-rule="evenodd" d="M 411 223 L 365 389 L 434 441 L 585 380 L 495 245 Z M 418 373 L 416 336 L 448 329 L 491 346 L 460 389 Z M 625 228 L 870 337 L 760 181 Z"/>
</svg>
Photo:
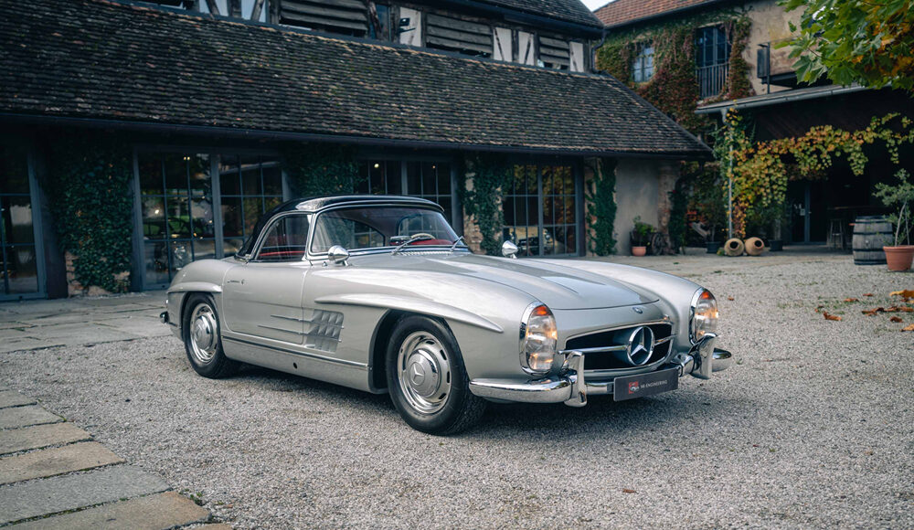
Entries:
<svg viewBox="0 0 914 530">
<path fill-rule="evenodd" d="M 750 96 L 749 63 L 742 57 L 749 41 L 750 21 L 739 13 L 690 17 L 616 34 L 597 51 L 597 67 L 626 83 L 689 131 L 705 131 L 710 120 L 695 112 L 699 101 L 695 39 L 698 28 L 715 23 L 724 27 L 730 42 L 728 78 L 722 93 L 706 102 Z M 644 43 L 654 48 L 654 75 L 636 83 L 632 80 L 632 59 Z"/>
</svg>

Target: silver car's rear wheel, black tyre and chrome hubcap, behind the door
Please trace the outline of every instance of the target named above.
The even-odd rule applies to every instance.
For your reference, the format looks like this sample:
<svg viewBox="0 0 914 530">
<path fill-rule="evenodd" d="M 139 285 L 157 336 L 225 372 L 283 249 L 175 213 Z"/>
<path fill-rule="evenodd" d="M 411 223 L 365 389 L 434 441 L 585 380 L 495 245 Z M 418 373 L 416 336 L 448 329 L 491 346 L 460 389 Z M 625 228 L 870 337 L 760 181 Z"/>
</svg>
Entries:
<svg viewBox="0 0 914 530">
<path fill-rule="evenodd" d="M 197 374 L 212 379 L 233 375 L 239 364 L 222 351 L 216 302 L 208 294 L 195 293 L 189 296 L 181 327 L 184 330 L 184 348 L 190 366 L 194 367 Z"/>
</svg>

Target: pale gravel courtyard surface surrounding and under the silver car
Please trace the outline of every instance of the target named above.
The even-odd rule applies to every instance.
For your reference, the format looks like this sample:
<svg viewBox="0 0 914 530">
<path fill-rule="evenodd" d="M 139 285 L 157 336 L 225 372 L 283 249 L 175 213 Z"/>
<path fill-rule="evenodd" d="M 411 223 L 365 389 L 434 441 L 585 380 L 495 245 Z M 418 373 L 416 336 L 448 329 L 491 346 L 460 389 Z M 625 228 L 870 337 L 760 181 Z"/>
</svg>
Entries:
<svg viewBox="0 0 914 530">
<path fill-rule="evenodd" d="M 237 528 L 914 527 L 914 313 L 861 313 L 901 304 L 914 273 L 694 261 L 668 268 L 717 295 L 730 370 L 619 404 L 493 406 L 455 438 L 386 396 L 258 368 L 207 380 L 174 337 L 5 353 L 0 383 Z"/>
</svg>

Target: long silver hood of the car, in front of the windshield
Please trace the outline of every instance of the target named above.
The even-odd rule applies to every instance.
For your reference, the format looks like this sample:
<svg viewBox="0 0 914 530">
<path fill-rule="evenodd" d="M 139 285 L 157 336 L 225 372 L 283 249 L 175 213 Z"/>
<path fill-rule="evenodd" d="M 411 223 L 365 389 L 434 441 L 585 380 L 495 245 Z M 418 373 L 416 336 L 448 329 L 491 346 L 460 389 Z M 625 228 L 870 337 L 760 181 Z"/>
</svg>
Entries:
<svg viewBox="0 0 914 530">
<path fill-rule="evenodd" d="M 605 276 L 541 260 L 508 260 L 458 252 L 420 253 L 408 250 L 354 257 L 356 267 L 420 273 L 456 274 L 490 281 L 533 296 L 550 309 L 599 309 L 656 302 Z"/>
</svg>

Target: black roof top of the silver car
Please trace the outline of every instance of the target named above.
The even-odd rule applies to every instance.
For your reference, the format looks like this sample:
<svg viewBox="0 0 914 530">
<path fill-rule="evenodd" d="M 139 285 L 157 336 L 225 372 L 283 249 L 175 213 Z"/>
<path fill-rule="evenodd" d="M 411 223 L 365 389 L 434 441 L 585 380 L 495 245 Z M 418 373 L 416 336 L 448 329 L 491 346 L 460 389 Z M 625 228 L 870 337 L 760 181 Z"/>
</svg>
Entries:
<svg viewBox="0 0 914 530">
<path fill-rule="evenodd" d="M 319 214 L 324 210 L 336 207 L 365 207 L 373 205 L 377 207 L 421 207 L 433 209 L 442 214 L 444 213 L 444 208 L 442 208 L 438 203 L 432 202 L 429 199 L 415 196 L 330 195 L 296 198 L 290 201 L 286 201 L 277 207 L 273 207 L 271 210 L 260 216 L 257 224 L 254 225 L 254 229 L 250 232 L 250 236 L 244 242 L 244 246 L 239 250 L 237 255 L 250 255 L 250 253 L 254 250 L 254 245 L 257 244 L 257 241 L 260 238 L 260 233 L 270 225 L 270 221 L 273 219 L 273 217 L 277 217 L 289 212 Z"/>
</svg>

